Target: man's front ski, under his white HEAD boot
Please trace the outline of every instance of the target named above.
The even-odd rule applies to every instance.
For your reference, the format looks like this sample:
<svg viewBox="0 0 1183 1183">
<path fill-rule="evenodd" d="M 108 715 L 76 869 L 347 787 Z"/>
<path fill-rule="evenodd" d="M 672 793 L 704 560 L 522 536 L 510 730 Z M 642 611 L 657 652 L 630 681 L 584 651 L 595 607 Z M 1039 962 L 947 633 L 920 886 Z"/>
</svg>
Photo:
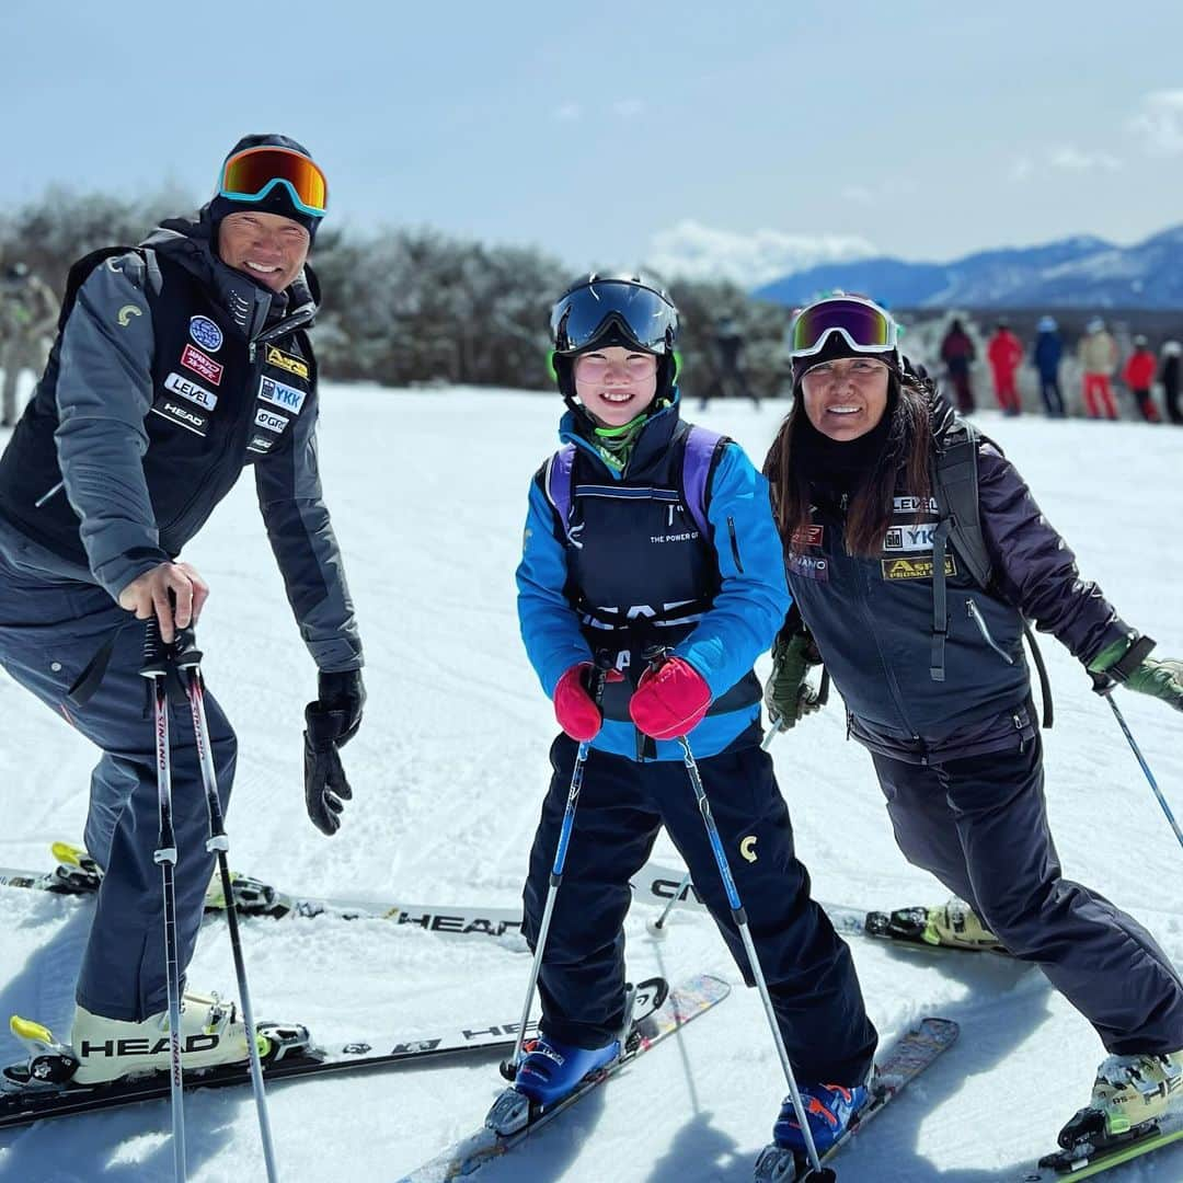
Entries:
<svg viewBox="0 0 1183 1183">
<path fill-rule="evenodd" d="M 651 978 L 636 987 L 634 1006 L 636 1014 L 642 1016 L 641 1022 L 657 1011 L 666 993 L 666 983 L 661 978 Z M 536 1027 L 536 1022 L 530 1022 L 526 1032 Z M 511 1052 L 517 1042 L 517 1030 L 518 1022 L 515 1020 L 444 1028 L 409 1039 L 370 1036 L 350 1043 L 319 1045 L 312 1041 L 308 1028 L 299 1024 L 258 1024 L 260 1040 L 266 1043 L 263 1053 L 263 1078 L 266 1082 L 328 1073 L 412 1067 L 434 1064 L 448 1056 Z M 6 1068 L 0 1077 L 0 1129 L 78 1113 L 95 1113 L 138 1101 L 164 1100 L 169 1095 L 167 1072 L 99 1085 L 76 1085 L 69 1081 L 64 1085 L 38 1085 L 28 1082 L 30 1075 L 35 1080 L 41 1079 L 35 1062 L 32 1073 L 21 1068 Z M 251 1069 L 245 1060 L 240 1065 L 192 1068 L 185 1073 L 186 1091 L 250 1084 Z"/>
</svg>

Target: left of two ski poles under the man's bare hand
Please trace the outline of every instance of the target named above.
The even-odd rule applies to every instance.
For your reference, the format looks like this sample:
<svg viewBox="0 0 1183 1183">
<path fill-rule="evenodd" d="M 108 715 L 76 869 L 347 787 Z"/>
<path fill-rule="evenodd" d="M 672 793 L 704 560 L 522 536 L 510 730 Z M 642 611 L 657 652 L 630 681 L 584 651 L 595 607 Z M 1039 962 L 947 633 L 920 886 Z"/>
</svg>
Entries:
<svg viewBox="0 0 1183 1183">
<path fill-rule="evenodd" d="M 185 1099 L 181 1069 L 181 971 L 176 948 L 176 835 L 173 832 L 173 770 L 168 744 L 169 649 L 160 625 L 149 618 L 144 628 L 144 660 L 140 673 L 151 683 L 156 737 L 156 801 L 160 830 L 153 855 L 161 870 L 164 893 L 164 978 L 168 988 L 169 1098 L 173 1110 L 173 1172 L 185 1183 Z"/>
</svg>

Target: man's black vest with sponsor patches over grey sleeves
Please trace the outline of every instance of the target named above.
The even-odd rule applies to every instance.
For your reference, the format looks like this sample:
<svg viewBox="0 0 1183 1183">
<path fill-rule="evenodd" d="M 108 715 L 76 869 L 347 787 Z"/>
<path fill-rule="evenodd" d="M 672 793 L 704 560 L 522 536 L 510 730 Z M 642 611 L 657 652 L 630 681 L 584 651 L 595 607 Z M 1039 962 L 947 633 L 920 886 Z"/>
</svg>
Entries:
<svg viewBox="0 0 1183 1183">
<path fill-rule="evenodd" d="M 85 278 L 127 251 L 96 251 L 71 269 L 49 363 L 0 458 L 0 513 L 82 567 L 88 561 L 78 517 L 53 441 L 62 334 Z M 175 558 L 243 468 L 290 446 L 295 418 L 315 414 L 316 362 L 300 329 L 311 316 L 280 321 L 247 342 L 185 267 L 151 248 L 140 253 L 148 266 L 144 297 L 155 338 L 142 464 L 161 549 Z"/>
</svg>

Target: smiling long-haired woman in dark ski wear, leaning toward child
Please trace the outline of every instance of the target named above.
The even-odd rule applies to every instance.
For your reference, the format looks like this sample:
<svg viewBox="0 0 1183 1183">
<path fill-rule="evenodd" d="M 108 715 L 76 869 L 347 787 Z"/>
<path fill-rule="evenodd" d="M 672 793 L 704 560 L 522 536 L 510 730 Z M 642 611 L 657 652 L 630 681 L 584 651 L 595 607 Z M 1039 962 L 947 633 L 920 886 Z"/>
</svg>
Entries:
<svg viewBox="0 0 1183 1183">
<path fill-rule="evenodd" d="M 791 726 L 815 705 L 810 658 L 826 662 L 907 860 L 968 901 L 976 916 L 952 918 L 968 939 L 996 938 L 1039 964 L 1112 1053 L 1088 1112 L 1116 1133 L 1183 1094 L 1183 983 L 1134 920 L 1060 875 L 1023 618 L 1090 671 L 1176 710 L 1183 662 L 1145 657 L 1152 642 L 1080 578 L 1022 477 L 984 439 L 970 454 L 993 577 L 983 588 L 970 576 L 933 478 L 965 425 L 897 340 L 883 309 L 848 296 L 794 324 L 796 402 L 765 465 L 794 610 L 768 702 Z"/>
</svg>

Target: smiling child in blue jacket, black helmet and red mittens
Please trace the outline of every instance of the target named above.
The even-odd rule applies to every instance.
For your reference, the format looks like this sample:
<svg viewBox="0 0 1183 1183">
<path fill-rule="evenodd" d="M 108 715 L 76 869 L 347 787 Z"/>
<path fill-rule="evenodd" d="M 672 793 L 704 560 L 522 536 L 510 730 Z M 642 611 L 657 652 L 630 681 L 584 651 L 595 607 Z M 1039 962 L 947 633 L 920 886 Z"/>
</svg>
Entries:
<svg viewBox="0 0 1183 1183">
<path fill-rule="evenodd" d="M 555 305 L 551 328 L 563 447 L 530 486 L 517 571 L 526 653 L 563 729 L 524 892 L 531 945 L 578 743 L 590 746 L 541 965 L 542 1036 L 516 1088 L 551 1104 L 619 1054 L 628 883 L 662 825 L 751 984 L 685 735 L 789 1058 L 825 1111 L 815 1139 L 828 1144 L 865 1100 L 877 1037 L 759 748 L 752 664 L 789 606 L 767 481 L 738 445 L 679 418 L 678 313 L 664 292 L 590 276 Z M 754 861 L 739 856 L 744 842 Z M 801 1145 L 788 1112 L 776 1134 Z"/>
</svg>

